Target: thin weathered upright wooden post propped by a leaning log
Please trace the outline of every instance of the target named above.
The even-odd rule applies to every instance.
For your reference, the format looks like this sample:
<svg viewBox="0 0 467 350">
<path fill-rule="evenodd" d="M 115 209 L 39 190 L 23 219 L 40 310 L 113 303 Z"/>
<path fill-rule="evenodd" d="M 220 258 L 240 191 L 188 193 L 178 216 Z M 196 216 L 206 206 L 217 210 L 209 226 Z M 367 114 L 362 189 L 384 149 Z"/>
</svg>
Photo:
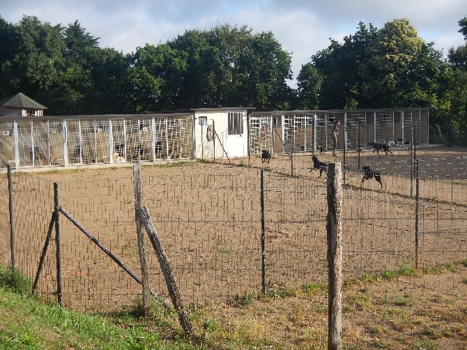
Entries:
<svg viewBox="0 0 467 350">
<path fill-rule="evenodd" d="M 143 314 L 149 312 L 151 306 L 149 300 L 149 284 L 148 284 L 148 266 L 146 264 L 146 254 L 144 254 L 144 236 L 141 227 L 141 220 L 139 220 L 136 213 L 137 208 L 141 208 L 141 166 L 139 162 L 133 161 L 133 185 L 135 190 L 135 221 L 136 221 L 136 236 L 138 242 L 139 264 L 141 264 L 141 285 L 143 286 Z"/>
</svg>

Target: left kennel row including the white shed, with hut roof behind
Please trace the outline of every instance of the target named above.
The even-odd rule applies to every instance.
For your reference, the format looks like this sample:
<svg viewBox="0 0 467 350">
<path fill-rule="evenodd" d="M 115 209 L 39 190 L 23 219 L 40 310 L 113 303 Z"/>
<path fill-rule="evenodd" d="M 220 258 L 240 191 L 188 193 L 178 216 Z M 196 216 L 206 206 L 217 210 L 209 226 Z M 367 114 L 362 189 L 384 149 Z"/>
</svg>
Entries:
<svg viewBox="0 0 467 350">
<path fill-rule="evenodd" d="M 247 155 L 247 115 L 253 108 L 44 116 L 45 106 L 20 96 L 24 101 L 12 96 L 15 102 L 0 109 L 2 168 Z"/>
</svg>

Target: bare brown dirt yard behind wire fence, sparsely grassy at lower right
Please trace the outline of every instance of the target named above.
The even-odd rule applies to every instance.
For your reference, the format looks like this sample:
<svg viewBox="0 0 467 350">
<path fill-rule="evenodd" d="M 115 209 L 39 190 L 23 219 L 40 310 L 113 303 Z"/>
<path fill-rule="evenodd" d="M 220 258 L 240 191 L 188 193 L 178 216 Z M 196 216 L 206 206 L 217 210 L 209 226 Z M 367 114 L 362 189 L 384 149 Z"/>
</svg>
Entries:
<svg viewBox="0 0 467 350">
<path fill-rule="evenodd" d="M 345 155 L 344 348 L 467 349 L 467 150 L 417 150 L 417 248 L 411 154 L 392 151 Z M 151 211 L 183 300 L 202 314 L 195 321 L 200 333 L 213 318 L 224 337 L 241 335 L 257 347 L 326 347 L 326 177 L 310 172 L 310 156 L 275 155 L 269 164 L 252 157 L 142 165 L 143 204 Z M 344 162 L 342 152 L 318 156 L 323 162 Z M 362 165 L 382 174 L 383 188 L 374 180 L 362 183 Z M 266 296 L 259 293 L 261 169 Z M 131 165 L 31 169 L 29 175 L 47 186 L 59 183 L 60 205 L 140 275 Z M 38 190 L 33 186 L 30 192 Z M 29 241 L 37 247 L 33 261 L 49 225 L 49 214 L 43 216 L 42 236 Z M 141 290 L 135 280 L 63 218 L 61 231 L 68 307 L 104 311 L 135 303 Z M 151 287 L 167 296 L 147 241 L 146 252 Z M 50 260 L 48 282 L 41 285 L 45 294 L 55 290 Z"/>
</svg>

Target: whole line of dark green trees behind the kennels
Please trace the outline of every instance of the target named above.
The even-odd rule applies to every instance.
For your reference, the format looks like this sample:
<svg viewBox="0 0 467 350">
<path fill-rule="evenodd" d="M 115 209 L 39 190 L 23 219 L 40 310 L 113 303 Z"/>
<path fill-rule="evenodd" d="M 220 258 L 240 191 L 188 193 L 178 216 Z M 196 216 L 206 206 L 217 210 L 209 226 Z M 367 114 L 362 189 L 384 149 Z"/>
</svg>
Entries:
<svg viewBox="0 0 467 350">
<path fill-rule="evenodd" d="M 22 92 L 51 115 L 433 107 L 433 123 L 465 135 L 467 17 L 459 27 L 466 43 L 445 58 L 406 19 L 382 28 L 360 22 L 354 34 L 310 56 L 294 89 L 291 54 L 270 31 L 218 24 L 123 54 L 99 47 L 78 21 L 0 17 L 0 98 Z"/>
</svg>

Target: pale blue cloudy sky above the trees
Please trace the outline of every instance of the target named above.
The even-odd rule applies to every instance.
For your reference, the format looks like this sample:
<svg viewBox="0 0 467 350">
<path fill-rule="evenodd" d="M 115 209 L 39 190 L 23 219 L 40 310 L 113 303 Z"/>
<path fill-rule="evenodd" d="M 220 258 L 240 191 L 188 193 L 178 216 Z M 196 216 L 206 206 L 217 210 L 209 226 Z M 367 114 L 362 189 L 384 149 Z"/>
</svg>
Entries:
<svg viewBox="0 0 467 350">
<path fill-rule="evenodd" d="M 0 0 L 0 16 L 17 24 L 24 15 L 52 25 L 78 21 L 100 47 L 123 54 L 137 47 L 173 40 L 187 29 L 217 24 L 271 31 L 291 54 L 293 77 L 326 49 L 330 39 L 355 34 L 361 21 L 382 28 L 408 19 L 426 42 L 447 54 L 464 45 L 459 20 L 467 17 L 466 0 Z M 293 82 L 292 82 L 293 83 Z"/>
</svg>

